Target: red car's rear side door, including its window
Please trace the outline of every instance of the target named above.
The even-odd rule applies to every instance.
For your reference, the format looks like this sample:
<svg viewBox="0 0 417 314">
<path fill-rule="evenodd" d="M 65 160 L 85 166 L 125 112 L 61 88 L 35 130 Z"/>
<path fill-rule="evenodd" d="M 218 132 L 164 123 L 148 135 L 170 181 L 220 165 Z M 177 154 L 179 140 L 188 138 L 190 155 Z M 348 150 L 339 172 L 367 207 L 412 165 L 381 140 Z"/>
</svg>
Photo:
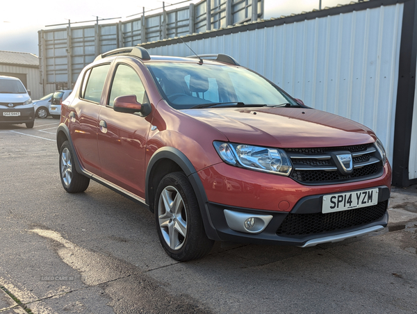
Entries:
<svg viewBox="0 0 417 314">
<path fill-rule="evenodd" d="M 71 138 L 81 166 L 92 174 L 101 176 L 97 133 L 99 112 L 104 102 L 101 98 L 110 63 L 88 69 L 83 78 L 79 97 L 70 106 Z"/>
</svg>

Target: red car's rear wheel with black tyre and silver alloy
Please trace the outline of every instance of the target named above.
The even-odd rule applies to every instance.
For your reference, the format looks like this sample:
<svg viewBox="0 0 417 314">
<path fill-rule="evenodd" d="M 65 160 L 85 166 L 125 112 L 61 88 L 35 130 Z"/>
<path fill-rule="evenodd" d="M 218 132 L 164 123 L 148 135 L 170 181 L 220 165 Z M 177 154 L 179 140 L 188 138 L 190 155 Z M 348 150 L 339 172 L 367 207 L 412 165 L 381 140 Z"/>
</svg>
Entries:
<svg viewBox="0 0 417 314">
<path fill-rule="evenodd" d="M 74 153 L 67 140 L 59 150 L 59 174 L 64 189 L 69 193 L 84 192 L 90 184 L 90 178 L 76 172 Z"/>
</svg>

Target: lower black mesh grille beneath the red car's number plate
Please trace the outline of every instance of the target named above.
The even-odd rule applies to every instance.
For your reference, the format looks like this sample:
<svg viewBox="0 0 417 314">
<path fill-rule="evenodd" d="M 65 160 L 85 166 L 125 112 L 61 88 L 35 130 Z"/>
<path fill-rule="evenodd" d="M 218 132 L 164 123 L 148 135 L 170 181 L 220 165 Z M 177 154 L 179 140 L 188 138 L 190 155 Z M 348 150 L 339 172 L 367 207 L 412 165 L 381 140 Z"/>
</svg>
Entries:
<svg viewBox="0 0 417 314">
<path fill-rule="evenodd" d="M 277 230 L 278 236 L 306 236 L 375 222 L 384 216 L 388 201 L 374 206 L 336 213 L 288 214 Z"/>
</svg>

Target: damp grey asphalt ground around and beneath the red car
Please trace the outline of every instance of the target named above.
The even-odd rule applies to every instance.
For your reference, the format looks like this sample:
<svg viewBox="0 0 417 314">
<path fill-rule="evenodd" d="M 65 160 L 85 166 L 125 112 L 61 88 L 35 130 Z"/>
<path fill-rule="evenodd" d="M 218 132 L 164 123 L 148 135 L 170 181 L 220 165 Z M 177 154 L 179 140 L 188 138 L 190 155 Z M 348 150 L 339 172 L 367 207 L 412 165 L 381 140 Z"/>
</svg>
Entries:
<svg viewBox="0 0 417 314">
<path fill-rule="evenodd" d="M 95 182 L 65 192 L 57 126 L 0 126 L 0 313 L 417 313 L 416 186 L 393 189 L 379 233 L 179 263 L 147 209 Z"/>
</svg>

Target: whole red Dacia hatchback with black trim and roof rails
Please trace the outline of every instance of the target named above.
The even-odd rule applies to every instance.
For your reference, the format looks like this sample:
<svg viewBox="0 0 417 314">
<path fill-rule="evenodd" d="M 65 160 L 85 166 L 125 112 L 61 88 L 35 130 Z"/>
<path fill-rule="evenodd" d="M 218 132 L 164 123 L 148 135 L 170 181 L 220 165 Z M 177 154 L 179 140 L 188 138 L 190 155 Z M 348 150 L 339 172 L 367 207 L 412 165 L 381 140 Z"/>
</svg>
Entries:
<svg viewBox="0 0 417 314">
<path fill-rule="evenodd" d="M 145 204 L 178 261 L 215 240 L 309 247 L 388 223 L 375 133 L 222 54 L 103 53 L 63 101 L 57 144 L 67 192 L 92 179 Z"/>
</svg>

